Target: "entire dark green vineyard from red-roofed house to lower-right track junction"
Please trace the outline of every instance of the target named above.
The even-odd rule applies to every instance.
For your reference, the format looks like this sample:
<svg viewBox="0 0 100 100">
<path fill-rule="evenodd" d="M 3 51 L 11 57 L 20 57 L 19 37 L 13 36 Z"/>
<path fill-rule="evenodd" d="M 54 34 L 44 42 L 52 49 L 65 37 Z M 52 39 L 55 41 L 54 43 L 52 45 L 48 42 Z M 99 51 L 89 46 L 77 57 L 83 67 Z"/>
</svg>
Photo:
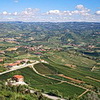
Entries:
<svg viewBox="0 0 100 100">
<path fill-rule="evenodd" d="M 31 68 L 24 68 L 18 71 L 1 75 L 0 80 L 7 80 L 8 78 L 11 78 L 16 74 L 23 75 L 25 77 L 25 82 L 29 84 L 29 86 L 39 90 L 44 89 L 46 93 L 50 92 L 51 90 L 58 90 L 65 97 L 72 96 L 74 94 L 79 95 L 84 91 L 84 89 L 81 89 L 79 87 L 67 83 L 59 84 L 60 81 L 42 77 L 36 74 Z M 74 90 L 77 92 L 75 92 Z"/>
</svg>

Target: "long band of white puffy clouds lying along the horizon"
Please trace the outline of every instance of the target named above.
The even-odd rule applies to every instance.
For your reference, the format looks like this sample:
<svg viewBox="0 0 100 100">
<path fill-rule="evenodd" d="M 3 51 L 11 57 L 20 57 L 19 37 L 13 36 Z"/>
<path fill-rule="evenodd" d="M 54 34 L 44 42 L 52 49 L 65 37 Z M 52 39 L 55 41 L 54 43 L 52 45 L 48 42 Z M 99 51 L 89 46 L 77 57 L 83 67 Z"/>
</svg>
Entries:
<svg viewBox="0 0 100 100">
<path fill-rule="evenodd" d="M 21 12 L 9 13 L 3 11 L 0 13 L 0 21 L 51 21 L 51 22 L 68 22 L 68 21 L 98 21 L 100 22 L 100 10 L 95 14 L 90 12 L 90 9 L 83 5 L 77 5 L 76 10 L 49 10 L 40 12 L 39 9 L 26 8 Z"/>
</svg>

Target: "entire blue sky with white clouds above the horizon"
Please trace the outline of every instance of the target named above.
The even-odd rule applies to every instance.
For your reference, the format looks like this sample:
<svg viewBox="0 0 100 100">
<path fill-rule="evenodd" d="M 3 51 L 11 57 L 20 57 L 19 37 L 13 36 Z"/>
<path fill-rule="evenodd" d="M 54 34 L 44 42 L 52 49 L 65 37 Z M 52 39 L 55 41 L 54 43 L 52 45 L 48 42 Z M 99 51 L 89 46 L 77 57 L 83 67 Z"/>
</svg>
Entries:
<svg viewBox="0 0 100 100">
<path fill-rule="evenodd" d="M 0 21 L 100 22 L 100 0 L 0 0 Z"/>
</svg>

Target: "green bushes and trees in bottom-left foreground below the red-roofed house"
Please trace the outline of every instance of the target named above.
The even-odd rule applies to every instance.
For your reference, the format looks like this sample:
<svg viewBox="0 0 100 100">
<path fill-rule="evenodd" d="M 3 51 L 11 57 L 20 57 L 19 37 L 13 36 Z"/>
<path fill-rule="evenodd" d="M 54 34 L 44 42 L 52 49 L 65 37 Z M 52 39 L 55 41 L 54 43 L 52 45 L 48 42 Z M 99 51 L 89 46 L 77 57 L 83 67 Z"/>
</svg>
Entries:
<svg viewBox="0 0 100 100">
<path fill-rule="evenodd" d="M 0 81 L 0 100 L 49 100 L 40 91 L 30 93 L 28 86 L 7 86 Z"/>
</svg>

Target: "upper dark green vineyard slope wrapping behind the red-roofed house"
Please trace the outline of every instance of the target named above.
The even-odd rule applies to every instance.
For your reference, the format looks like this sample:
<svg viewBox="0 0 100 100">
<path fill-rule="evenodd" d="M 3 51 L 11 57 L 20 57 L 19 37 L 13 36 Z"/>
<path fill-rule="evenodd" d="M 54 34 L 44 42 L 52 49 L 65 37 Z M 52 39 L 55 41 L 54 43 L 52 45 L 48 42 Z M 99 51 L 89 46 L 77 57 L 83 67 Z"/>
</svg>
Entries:
<svg viewBox="0 0 100 100">
<path fill-rule="evenodd" d="M 45 84 L 52 84 L 57 83 L 58 81 L 54 81 L 51 79 L 44 78 L 40 75 L 37 75 L 31 68 L 23 68 L 17 71 L 13 71 L 4 75 L 0 76 L 0 80 L 6 80 L 8 78 L 11 78 L 13 75 L 21 74 L 25 77 L 25 82 L 33 85 L 45 85 Z"/>
</svg>

